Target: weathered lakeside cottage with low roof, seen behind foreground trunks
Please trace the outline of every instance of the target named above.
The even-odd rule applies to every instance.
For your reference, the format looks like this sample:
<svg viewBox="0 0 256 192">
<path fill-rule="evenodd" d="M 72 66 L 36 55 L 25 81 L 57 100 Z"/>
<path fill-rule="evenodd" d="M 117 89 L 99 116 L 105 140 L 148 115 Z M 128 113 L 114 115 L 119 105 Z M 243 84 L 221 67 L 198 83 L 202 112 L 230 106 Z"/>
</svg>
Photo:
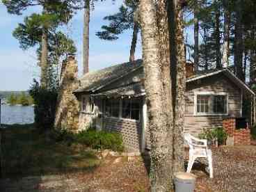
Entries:
<svg viewBox="0 0 256 192">
<path fill-rule="evenodd" d="M 222 126 L 225 118 L 241 117 L 243 97 L 255 96 L 227 69 L 194 74 L 193 65 L 187 65 L 186 76 L 184 131 L 194 135 Z M 118 131 L 129 151 L 150 148 L 143 78 L 141 60 L 81 77 L 74 91 L 81 105 L 80 129 L 93 124 L 97 129 Z"/>
</svg>

